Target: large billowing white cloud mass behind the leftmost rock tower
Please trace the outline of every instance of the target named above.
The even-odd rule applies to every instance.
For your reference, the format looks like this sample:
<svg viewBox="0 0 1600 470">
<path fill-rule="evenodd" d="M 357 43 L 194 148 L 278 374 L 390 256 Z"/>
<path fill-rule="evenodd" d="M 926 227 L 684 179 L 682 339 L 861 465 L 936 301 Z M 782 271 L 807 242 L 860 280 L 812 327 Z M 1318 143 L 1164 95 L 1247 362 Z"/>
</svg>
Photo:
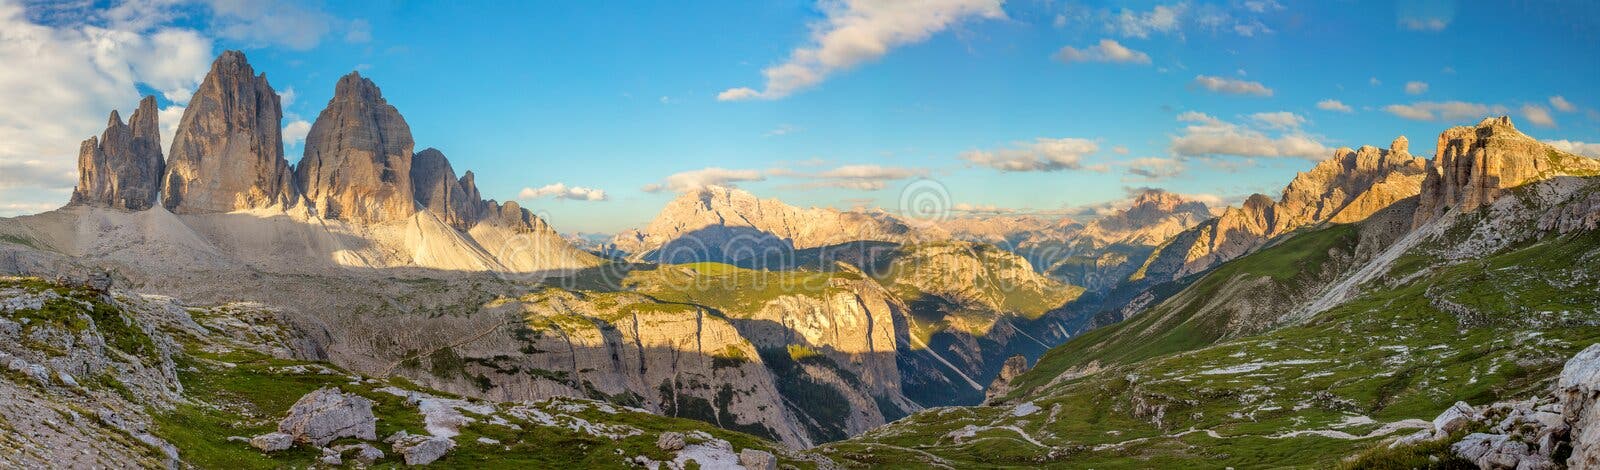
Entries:
<svg viewBox="0 0 1600 470">
<path fill-rule="evenodd" d="M 211 42 L 192 30 L 45 26 L 22 5 L 0 2 L 0 173 L 27 187 L 0 198 L 16 208 L 59 206 L 75 177 L 21 176 L 72 176 L 78 142 L 104 131 L 110 110 L 130 117 L 141 86 L 187 102 L 210 62 Z M 181 106 L 173 109 L 181 115 Z M 158 114 L 163 128 L 176 125 L 168 110 Z"/>
</svg>

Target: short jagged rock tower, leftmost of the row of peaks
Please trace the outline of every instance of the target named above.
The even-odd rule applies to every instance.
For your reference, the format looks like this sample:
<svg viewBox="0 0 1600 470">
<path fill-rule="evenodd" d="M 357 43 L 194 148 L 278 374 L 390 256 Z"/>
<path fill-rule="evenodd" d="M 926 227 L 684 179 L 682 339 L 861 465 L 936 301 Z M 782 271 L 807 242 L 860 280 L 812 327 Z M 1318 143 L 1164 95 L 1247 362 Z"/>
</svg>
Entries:
<svg viewBox="0 0 1600 470">
<path fill-rule="evenodd" d="M 83 141 L 78 150 L 78 185 L 74 205 L 142 211 L 155 205 L 160 193 L 162 134 L 157 125 L 155 96 L 139 101 L 128 123 L 110 112 L 106 133 Z"/>
</svg>

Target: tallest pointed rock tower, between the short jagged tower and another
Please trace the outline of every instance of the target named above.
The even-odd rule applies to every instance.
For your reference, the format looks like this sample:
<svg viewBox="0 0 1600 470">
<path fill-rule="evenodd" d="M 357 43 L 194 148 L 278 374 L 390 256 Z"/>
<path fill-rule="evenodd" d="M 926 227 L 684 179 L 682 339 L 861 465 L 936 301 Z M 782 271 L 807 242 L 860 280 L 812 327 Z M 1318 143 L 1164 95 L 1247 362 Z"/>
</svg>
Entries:
<svg viewBox="0 0 1600 470">
<path fill-rule="evenodd" d="M 256 75 L 243 53 L 222 53 L 173 133 L 162 205 L 186 214 L 296 203 L 282 120 L 267 75 Z"/>
</svg>

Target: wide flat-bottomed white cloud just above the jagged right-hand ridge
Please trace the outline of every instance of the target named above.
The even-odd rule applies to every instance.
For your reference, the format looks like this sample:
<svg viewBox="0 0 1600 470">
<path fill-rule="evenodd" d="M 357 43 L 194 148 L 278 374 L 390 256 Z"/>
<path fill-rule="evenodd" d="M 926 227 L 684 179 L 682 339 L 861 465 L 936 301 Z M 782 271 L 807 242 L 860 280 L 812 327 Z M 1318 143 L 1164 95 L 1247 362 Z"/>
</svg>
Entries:
<svg viewBox="0 0 1600 470">
<path fill-rule="evenodd" d="M 1192 125 L 1182 134 L 1173 136 L 1171 150 L 1184 157 L 1299 157 L 1322 160 L 1331 150 L 1312 136 L 1290 131 L 1278 137 L 1270 137 L 1258 129 L 1227 123 L 1206 114 L 1186 112 L 1181 121 Z"/>
</svg>

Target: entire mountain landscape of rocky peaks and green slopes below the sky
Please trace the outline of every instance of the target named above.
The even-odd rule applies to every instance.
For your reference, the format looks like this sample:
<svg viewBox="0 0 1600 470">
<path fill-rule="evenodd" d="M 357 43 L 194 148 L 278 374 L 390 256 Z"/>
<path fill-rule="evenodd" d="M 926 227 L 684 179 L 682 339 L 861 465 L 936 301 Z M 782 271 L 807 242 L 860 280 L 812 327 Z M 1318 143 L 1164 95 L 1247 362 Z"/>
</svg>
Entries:
<svg viewBox="0 0 1600 470">
<path fill-rule="evenodd" d="M 0 464 L 1331 467 L 1418 428 L 1394 452 L 1459 464 L 1426 419 L 1544 396 L 1600 341 L 1600 161 L 1504 117 L 1237 208 L 926 222 L 704 187 L 562 237 L 358 74 L 294 165 L 278 102 L 224 53 L 165 153 L 147 98 L 64 208 L 0 219 L 0 404 L 27 403 L 0 424 L 29 430 Z M 394 440 L 322 440 L 315 403 Z M 1562 419 L 1542 459 L 1587 456 Z"/>
</svg>

